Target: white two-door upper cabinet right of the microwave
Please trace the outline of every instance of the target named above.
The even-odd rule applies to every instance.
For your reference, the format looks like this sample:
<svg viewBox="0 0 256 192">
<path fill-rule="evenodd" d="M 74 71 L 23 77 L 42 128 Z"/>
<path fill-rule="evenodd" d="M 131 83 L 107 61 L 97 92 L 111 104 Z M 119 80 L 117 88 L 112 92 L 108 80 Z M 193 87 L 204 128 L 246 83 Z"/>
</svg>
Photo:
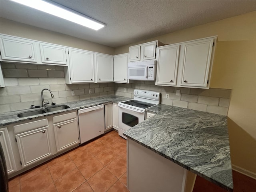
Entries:
<svg viewBox="0 0 256 192">
<path fill-rule="evenodd" d="M 158 47 L 156 85 L 208 89 L 217 37 Z"/>
</svg>

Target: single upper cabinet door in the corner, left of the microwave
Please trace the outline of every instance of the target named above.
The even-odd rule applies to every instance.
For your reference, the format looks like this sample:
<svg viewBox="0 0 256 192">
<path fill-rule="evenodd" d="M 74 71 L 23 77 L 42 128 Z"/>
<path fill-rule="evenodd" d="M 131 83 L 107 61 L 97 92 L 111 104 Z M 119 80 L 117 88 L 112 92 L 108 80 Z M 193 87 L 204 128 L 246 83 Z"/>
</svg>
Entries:
<svg viewBox="0 0 256 192">
<path fill-rule="evenodd" d="M 128 54 L 114 56 L 114 82 L 127 83 Z"/>
</svg>

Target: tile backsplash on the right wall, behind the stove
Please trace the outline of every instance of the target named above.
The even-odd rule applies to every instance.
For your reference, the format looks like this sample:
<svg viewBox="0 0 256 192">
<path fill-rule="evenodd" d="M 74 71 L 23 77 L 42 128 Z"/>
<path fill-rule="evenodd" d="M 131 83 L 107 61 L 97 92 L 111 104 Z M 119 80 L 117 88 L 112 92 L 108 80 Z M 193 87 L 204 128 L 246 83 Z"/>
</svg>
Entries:
<svg viewBox="0 0 256 192">
<path fill-rule="evenodd" d="M 124 92 L 126 88 L 126 92 Z M 133 98 L 134 89 L 152 90 L 161 93 L 161 103 L 182 108 L 227 115 L 230 102 L 230 89 L 196 89 L 156 86 L 151 81 L 136 81 L 132 84 L 116 84 L 116 95 Z M 180 90 L 180 96 L 176 96 Z M 166 93 L 169 99 L 166 99 Z"/>
</svg>

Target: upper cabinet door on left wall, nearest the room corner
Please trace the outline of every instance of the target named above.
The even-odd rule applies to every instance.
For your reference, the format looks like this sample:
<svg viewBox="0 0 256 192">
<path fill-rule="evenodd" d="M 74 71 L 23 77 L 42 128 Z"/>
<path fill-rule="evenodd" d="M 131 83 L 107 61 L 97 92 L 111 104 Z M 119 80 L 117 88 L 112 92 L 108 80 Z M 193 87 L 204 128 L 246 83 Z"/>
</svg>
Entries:
<svg viewBox="0 0 256 192">
<path fill-rule="evenodd" d="M 96 54 L 97 82 L 113 82 L 113 57 Z"/>
</svg>

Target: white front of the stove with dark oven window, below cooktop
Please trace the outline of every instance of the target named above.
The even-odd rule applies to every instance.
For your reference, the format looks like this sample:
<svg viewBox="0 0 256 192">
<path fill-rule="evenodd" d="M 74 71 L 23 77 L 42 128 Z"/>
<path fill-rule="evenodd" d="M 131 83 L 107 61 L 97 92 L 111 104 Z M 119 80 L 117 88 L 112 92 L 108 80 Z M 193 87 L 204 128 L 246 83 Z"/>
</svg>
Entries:
<svg viewBox="0 0 256 192">
<path fill-rule="evenodd" d="M 127 106 L 119 105 L 118 134 L 126 139 L 123 132 L 144 121 L 145 112 Z"/>
</svg>

